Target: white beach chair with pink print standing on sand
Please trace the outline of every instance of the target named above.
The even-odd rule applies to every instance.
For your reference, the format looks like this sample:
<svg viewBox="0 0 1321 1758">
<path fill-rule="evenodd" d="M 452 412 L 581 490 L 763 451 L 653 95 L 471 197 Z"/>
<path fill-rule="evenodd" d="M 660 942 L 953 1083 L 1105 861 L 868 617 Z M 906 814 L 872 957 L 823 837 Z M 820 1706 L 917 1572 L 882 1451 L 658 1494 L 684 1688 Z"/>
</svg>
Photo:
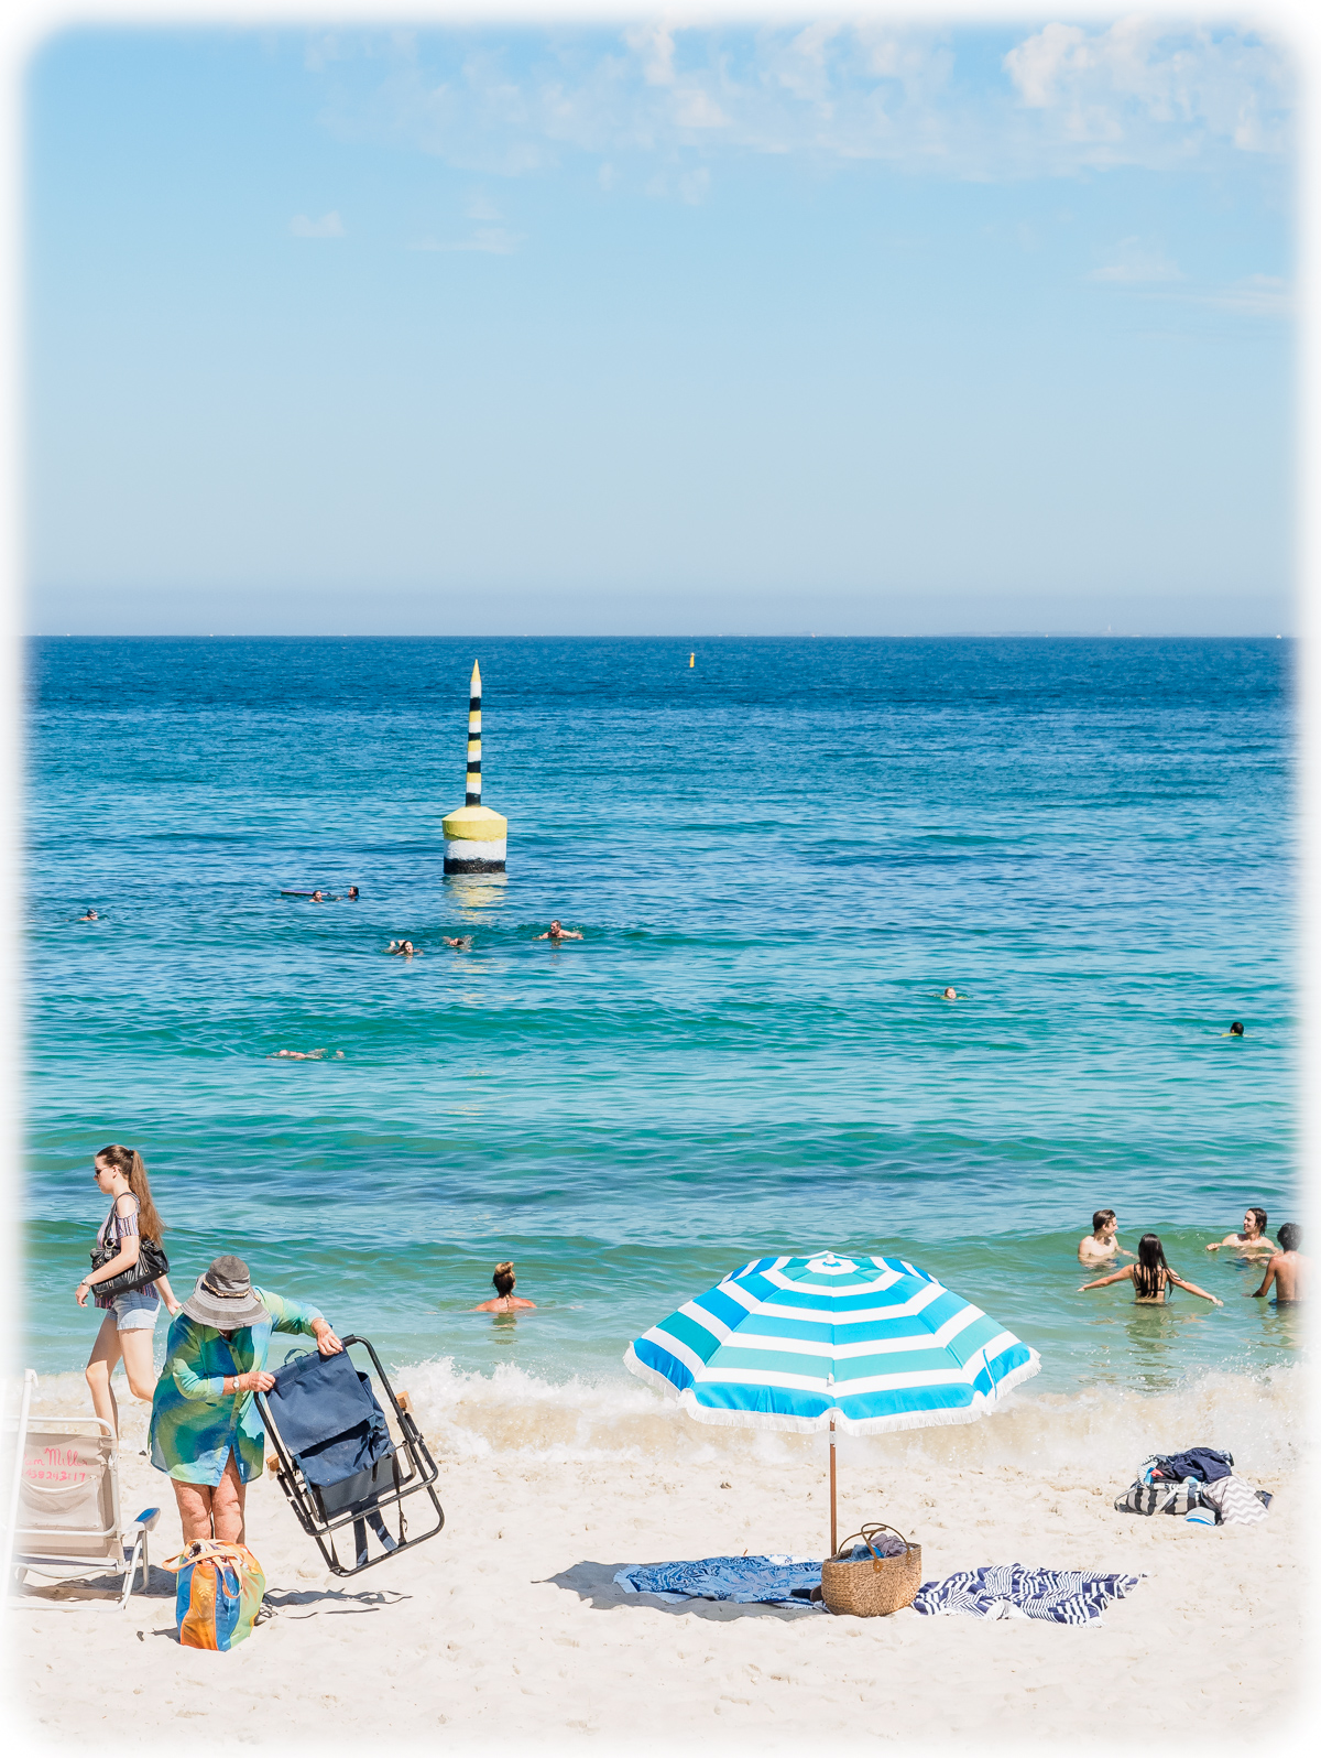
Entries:
<svg viewBox="0 0 1321 1758">
<path fill-rule="evenodd" d="M 112 1572 L 123 1575 L 118 1609 L 125 1610 L 139 1566 L 146 1591 L 148 1533 L 155 1529 L 160 1508 L 144 1508 L 134 1521 L 123 1517 L 118 1443 L 109 1422 L 100 1417 L 33 1417 L 25 1396 L 18 1422 L 5 1424 L 5 1454 L 14 1471 L 7 1498 L 7 1591 L 23 1587 L 30 1572 L 53 1575 L 56 1582 Z M 69 1609 L 86 1607 L 88 1600 L 19 1593 L 9 1603 Z"/>
</svg>

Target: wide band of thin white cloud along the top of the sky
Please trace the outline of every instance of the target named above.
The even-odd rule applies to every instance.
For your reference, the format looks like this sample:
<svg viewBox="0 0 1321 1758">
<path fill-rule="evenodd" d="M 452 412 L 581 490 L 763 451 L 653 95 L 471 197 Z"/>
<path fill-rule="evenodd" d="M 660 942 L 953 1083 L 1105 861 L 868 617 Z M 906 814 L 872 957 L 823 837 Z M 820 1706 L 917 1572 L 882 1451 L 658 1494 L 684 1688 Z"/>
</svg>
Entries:
<svg viewBox="0 0 1321 1758">
<path fill-rule="evenodd" d="M 991 69 L 961 42 L 952 30 L 834 21 L 722 30 L 660 19 L 606 44 L 573 28 L 397 32 L 336 37 L 311 77 L 337 134 L 490 176 L 590 153 L 610 178 L 625 155 L 659 171 L 734 149 L 1003 179 L 1214 167 L 1288 144 L 1289 65 L 1249 32 L 1049 23 Z"/>
</svg>

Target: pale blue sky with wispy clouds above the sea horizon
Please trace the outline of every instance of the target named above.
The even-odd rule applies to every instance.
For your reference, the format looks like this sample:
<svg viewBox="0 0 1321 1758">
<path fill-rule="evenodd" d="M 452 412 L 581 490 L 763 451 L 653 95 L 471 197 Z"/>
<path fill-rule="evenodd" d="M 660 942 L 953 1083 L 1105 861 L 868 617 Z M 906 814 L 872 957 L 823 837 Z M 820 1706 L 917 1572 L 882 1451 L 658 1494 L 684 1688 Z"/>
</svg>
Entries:
<svg viewBox="0 0 1321 1758">
<path fill-rule="evenodd" d="M 1289 633 L 1286 46 L 70 30 L 28 626 Z"/>
</svg>

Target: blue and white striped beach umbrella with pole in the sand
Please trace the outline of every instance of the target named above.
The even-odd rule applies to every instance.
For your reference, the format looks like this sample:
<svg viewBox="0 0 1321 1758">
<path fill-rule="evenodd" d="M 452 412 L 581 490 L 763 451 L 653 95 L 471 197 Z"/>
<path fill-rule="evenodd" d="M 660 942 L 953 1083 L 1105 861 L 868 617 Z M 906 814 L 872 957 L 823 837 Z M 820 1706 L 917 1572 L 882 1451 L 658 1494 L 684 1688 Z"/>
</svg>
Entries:
<svg viewBox="0 0 1321 1758">
<path fill-rule="evenodd" d="M 699 1422 L 885 1435 L 975 1422 L 1042 1366 L 903 1257 L 755 1257 L 629 1343 L 625 1366 Z"/>
</svg>

